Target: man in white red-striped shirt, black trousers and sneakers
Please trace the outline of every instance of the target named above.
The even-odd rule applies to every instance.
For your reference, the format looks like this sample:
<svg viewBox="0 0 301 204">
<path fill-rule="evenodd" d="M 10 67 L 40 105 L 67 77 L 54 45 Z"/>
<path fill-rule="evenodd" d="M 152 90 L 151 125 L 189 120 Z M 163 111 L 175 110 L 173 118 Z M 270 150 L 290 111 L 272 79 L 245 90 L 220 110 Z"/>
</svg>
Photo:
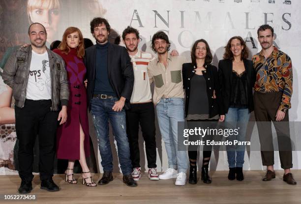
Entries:
<svg viewBox="0 0 301 204">
<path fill-rule="evenodd" d="M 150 53 L 145 53 L 138 49 L 140 37 L 137 29 L 127 27 L 122 32 L 122 39 L 131 58 L 135 77 L 134 89 L 130 100 L 131 109 L 126 111 L 126 131 L 133 165 L 132 176 L 134 180 L 139 180 L 141 177 L 138 142 L 140 123 L 142 136 L 145 141 L 149 178 L 151 180 L 159 180 L 156 171 L 155 115 L 148 76 L 148 64 L 152 56 Z"/>
</svg>

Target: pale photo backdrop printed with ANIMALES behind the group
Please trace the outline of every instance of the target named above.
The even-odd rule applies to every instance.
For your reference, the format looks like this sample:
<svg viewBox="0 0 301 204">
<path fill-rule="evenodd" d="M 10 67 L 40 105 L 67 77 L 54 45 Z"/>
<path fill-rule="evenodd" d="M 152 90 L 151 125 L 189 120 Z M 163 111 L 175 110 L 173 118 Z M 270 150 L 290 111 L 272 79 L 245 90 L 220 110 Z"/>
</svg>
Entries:
<svg viewBox="0 0 301 204">
<path fill-rule="evenodd" d="M 38 8 L 39 7 L 39 8 Z M 290 121 L 298 135 L 301 126 L 301 110 L 299 101 L 301 93 L 301 1 L 299 0 L 1 0 L 0 1 L 0 67 L 3 69 L 5 59 L 14 46 L 29 42 L 27 29 L 31 22 L 39 22 L 47 27 L 49 47 L 54 40 L 61 40 L 63 31 L 69 26 L 82 30 L 85 38 L 95 43 L 90 33 L 90 20 L 93 17 L 104 17 L 111 25 L 110 41 L 120 35 L 127 26 L 140 31 L 139 48 L 152 53 L 150 49 L 151 36 L 158 30 L 165 31 L 172 41 L 172 49 L 189 59 L 192 43 L 200 38 L 206 39 L 213 54 L 212 64 L 217 66 L 222 59 L 224 46 L 228 39 L 240 35 L 250 50 L 250 56 L 261 50 L 257 40 L 257 29 L 262 24 L 270 24 L 274 28 L 274 45 L 287 53 L 293 64 L 293 96 Z M 39 12 L 37 12 L 39 10 Z M 48 12 L 47 15 L 45 14 Z M 45 14 L 45 15 L 42 15 Z M 122 44 L 122 41 L 120 43 Z M 152 53 L 154 56 L 155 54 Z M 17 147 L 14 130 L 14 115 L 10 110 L 13 100 L 10 90 L 0 79 L 0 174 L 16 174 Z M 8 105 L 9 104 L 9 105 Z M 8 117 L 8 119 L 4 119 Z M 91 119 L 91 118 L 90 118 Z M 251 115 L 247 134 L 257 136 L 257 127 Z M 296 125 L 297 124 L 297 125 Z M 157 166 L 158 171 L 164 171 L 167 165 L 167 155 L 164 142 L 158 126 L 156 126 Z M 101 158 L 98 152 L 97 139 L 90 120 L 90 137 L 94 149 L 90 158 L 90 166 L 94 172 L 101 172 Z M 114 152 L 114 171 L 118 172 L 118 157 L 113 134 L 110 133 Z M 298 144 L 296 144 L 298 145 Z M 140 137 L 141 165 L 147 169 L 144 143 Z M 37 152 L 37 151 L 35 151 Z M 35 154 L 35 157 L 38 155 Z M 202 161 L 202 156 L 199 160 Z M 263 169 L 260 152 L 247 151 L 245 154 L 245 170 Z M 36 161 L 36 159 L 35 159 Z M 66 163 L 56 160 L 56 172 L 61 173 Z M 201 165 L 201 162 L 200 162 Z M 294 169 L 301 169 L 301 153 L 293 152 Z M 212 154 L 211 170 L 228 170 L 226 152 Z M 275 168 L 280 169 L 278 152 L 275 152 Z M 38 171 L 35 162 L 34 170 Z"/>
</svg>

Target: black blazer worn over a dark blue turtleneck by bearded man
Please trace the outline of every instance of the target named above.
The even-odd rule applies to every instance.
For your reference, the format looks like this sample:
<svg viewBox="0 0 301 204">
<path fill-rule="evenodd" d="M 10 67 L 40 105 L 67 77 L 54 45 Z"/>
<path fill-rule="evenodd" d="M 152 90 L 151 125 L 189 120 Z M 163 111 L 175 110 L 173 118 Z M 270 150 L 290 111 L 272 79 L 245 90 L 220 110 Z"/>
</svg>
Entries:
<svg viewBox="0 0 301 204">
<path fill-rule="evenodd" d="M 93 97 L 95 82 L 96 45 L 86 49 L 84 64 L 87 68 L 87 103 L 91 110 L 90 100 Z M 130 108 L 130 99 L 134 87 L 134 72 L 131 59 L 125 47 L 109 43 L 108 78 L 116 96 L 126 98 L 124 107 Z"/>
</svg>

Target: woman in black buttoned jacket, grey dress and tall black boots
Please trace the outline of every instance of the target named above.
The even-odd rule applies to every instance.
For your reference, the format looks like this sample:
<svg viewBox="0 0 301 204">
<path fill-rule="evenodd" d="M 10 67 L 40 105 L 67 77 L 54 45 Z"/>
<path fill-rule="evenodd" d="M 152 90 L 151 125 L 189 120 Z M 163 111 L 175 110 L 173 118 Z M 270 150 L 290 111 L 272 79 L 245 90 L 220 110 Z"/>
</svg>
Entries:
<svg viewBox="0 0 301 204">
<path fill-rule="evenodd" d="M 182 66 L 183 88 L 186 94 L 185 117 L 190 129 L 200 127 L 200 121 L 207 121 L 207 123 L 205 122 L 205 127 L 203 127 L 204 123 L 202 125 L 202 128 L 207 128 L 208 121 L 216 122 L 218 119 L 223 121 L 225 116 L 219 97 L 220 88 L 217 68 L 211 65 L 212 54 L 206 40 L 200 39 L 194 43 L 191 49 L 191 61 L 191 63 L 184 63 Z M 204 139 L 210 140 L 208 137 Z M 189 139 L 189 141 L 195 140 L 196 136 L 191 136 Z M 197 182 L 197 148 L 198 146 L 188 147 L 190 162 L 189 183 L 191 184 L 196 184 Z M 204 145 L 201 175 L 204 183 L 211 183 L 211 178 L 208 175 L 211 148 L 212 146 L 210 145 Z"/>
</svg>

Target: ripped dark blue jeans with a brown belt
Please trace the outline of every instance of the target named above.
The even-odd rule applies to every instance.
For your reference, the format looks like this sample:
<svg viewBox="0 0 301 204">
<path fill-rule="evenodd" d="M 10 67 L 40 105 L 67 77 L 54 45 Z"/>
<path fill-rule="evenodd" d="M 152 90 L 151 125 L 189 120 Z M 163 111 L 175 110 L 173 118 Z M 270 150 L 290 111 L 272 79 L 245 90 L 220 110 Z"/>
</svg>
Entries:
<svg viewBox="0 0 301 204">
<path fill-rule="evenodd" d="M 101 156 L 101 165 L 104 172 L 113 171 L 113 156 L 109 140 L 109 121 L 113 128 L 113 134 L 118 148 L 118 158 L 120 169 L 123 175 L 132 173 L 132 163 L 130 160 L 130 149 L 126 135 L 125 111 L 112 110 L 117 98 L 92 98 L 91 114 L 98 140 L 98 147 Z"/>
</svg>

